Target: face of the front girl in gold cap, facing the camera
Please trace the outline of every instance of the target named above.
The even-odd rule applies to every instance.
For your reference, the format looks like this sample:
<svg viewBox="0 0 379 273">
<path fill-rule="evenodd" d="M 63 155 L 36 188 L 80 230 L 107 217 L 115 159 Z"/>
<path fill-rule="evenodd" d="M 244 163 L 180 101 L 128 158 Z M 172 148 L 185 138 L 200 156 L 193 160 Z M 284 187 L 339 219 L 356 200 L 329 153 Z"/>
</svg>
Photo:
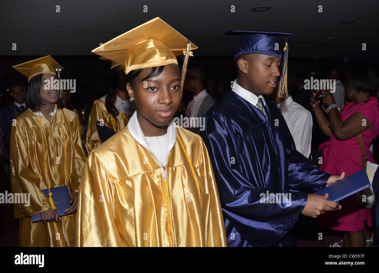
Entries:
<svg viewBox="0 0 379 273">
<path fill-rule="evenodd" d="M 145 68 L 134 79 L 134 89 L 128 83 L 128 93 L 135 99 L 138 115 L 154 126 L 166 126 L 180 105 L 179 67 L 168 64 L 160 75 L 144 80 L 150 71 L 150 67 Z"/>
</svg>

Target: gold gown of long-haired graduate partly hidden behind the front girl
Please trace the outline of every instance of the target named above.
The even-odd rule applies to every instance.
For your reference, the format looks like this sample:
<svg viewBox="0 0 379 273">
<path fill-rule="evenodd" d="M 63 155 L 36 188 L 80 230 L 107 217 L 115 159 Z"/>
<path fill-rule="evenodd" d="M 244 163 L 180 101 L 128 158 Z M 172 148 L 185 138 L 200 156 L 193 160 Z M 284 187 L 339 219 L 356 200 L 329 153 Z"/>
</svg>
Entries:
<svg viewBox="0 0 379 273">
<path fill-rule="evenodd" d="M 90 152 L 92 152 L 92 150 L 96 149 L 102 144 L 99 135 L 97 134 L 96 127 L 96 121 L 100 121 L 100 119 L 103 119 L 104 126 L 113 130 L 113 116 L 111 116 L 108 111 L 106 111 L 105 102 L 102 99 L 95 100 L 94 104 L 92 105 L 91 113 L 89 113 L 86 134 L 86 150 L 88 155 Z M 130 116 L 124 112 L 119 111 L 117 119 L 119 122 L 114 121 L 114 125 L 116 126 L 116 132 L 119 132 L 119 130 L 127 126 Z"/>
</svg>

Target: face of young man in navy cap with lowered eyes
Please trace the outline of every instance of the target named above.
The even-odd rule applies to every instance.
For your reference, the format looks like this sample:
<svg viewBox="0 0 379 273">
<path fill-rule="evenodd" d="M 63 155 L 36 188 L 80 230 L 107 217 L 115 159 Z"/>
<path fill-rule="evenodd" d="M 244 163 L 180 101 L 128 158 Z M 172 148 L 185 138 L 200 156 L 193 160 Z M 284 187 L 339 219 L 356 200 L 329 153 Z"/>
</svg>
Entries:
<svg viewBox="0 0 379 273">
<path fill-rule="evenodd" d="M 280 76 L 281 62 L 282 58 L 255 54 L 254 60 L 247 62 L 246 67 L 242 70 L 246 74 L 249 91 L 257 96 L 273 93 L 277 85 L 277 78 Z"/>
</svg>

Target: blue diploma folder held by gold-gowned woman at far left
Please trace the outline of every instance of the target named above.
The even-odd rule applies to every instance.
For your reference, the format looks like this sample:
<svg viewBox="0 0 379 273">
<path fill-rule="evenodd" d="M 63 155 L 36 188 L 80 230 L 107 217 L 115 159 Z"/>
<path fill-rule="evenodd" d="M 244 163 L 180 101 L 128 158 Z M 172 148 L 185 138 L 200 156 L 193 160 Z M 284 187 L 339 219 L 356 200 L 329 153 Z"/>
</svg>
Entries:
<svg viewBox="0 0 379 273">
<path fill-rule="evenodd" d="M 42 190 L 44 194 L 49 198 L 49 189 Z M 56 212 L 58 212 L 59 217 L 67 215 L 64 213 L 66 209 L 71 207 L 70 204 L 70 191 L 67 186 L 50 188 L 52 192 L 52 198 L 54 202 L 54 206 L 56 207 Z M 49 203 L 50 204 L 50 203 Z M 31 222 L 36 223 L 41 221 L 41 213 L 36 215 L 32 215 Z"/>
</svg>

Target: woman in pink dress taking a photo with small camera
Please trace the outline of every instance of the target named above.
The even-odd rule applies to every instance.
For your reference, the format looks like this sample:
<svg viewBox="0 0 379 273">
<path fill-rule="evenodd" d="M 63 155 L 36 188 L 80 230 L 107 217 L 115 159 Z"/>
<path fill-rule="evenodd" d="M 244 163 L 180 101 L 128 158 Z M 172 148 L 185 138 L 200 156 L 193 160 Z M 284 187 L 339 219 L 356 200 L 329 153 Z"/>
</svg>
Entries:
<svg viewBox="0 0 379 273">
<path fill-rule="evenodd" d="M 379 135 L 379 104 L 374 97 L 377 90 L 376 76 L 371 69 L 351 71 L 346 87 L 346 94 L 351 102 L 340 113 L 338 107 L 330 108 L 329 120 L 318 107 L 319 101 L 315 102 L 311 98 L 317 122 L 330 137 L 329 141 L 319 146 L 323 150 L 319 170 L 330 174 L 344 171 L 346 176 L 361 170 L 362 154 L 357 138 L 360 133 L 367 160 L 376 163 L 369 147 L 372 140 Z M 329 91 L 324 91 L 323 101 L 326 105 L 335 105 L 333 94 Z M 341 200 L 340 205 L 341 210 L 320 217 L 319 224 L 342 231 L 343 246 L 366 246 L 364 229 L 365 224 L 372 226 L 373 211 L 359 206 L 354 195 Z"/>
</svg>

